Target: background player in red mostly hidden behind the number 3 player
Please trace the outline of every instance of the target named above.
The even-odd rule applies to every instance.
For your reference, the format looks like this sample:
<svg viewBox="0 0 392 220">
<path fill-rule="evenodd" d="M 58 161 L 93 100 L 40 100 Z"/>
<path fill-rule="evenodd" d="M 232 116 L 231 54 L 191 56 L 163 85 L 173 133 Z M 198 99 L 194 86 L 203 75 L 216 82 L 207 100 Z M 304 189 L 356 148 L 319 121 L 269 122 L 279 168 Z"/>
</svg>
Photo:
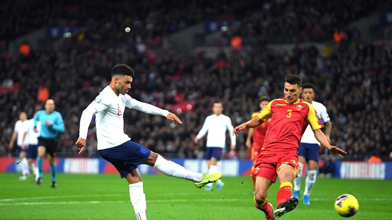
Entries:
<svg viewBox="0 0 392 220">
<path fill-rule="evenodd" d="M 261 113 L 261 111 L 263 111 L 264 107 L 267 106 L 269 101 L 271 101 L 271 99 L 268 96 L 262 96 L 259 100 L 260 111 L 253 113 L 251 119 L 256 118 L 257 115 Z M 253 160 L 252 171 L 255 168 L 254 166 L 255 166 L 256 158 L 260 154 L 260 150 L 263 147 L 264 137 L 265 137 L 265 133 L 267 132 L 269 121 L 271 120 L 268 119 L 267 121 L 262 123 L 260 126 L 257 126 L 256 128 L 249 128 L 247 142 L 245 144 L 248 148 L 251 149 L 251 159 Z M 256 178 L 252 177 L 252 181 L 253 181 L 253 193 L 254 193 Z"/>
</svg>

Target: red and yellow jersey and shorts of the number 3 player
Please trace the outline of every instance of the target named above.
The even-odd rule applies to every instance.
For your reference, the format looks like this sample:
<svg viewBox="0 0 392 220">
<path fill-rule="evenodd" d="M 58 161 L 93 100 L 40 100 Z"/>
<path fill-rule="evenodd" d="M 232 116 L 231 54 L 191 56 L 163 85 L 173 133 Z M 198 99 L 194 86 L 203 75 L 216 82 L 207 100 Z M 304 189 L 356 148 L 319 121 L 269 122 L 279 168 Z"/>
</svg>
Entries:
<svg viewBox="0 0 392 220">
<path fill-rule="evenodd" d="M 308 124 L 312 130 L 324 127 L 313 106 L 303 99 L 293 104 L 284 98 L 274 99 L 257 117 L 266 121 L 271 118 L 264 144 L 256 159 L 252 176 L 276 181 L 280 168 L 290 164 L 298 173 L 298 147 Z"/>
</svg>

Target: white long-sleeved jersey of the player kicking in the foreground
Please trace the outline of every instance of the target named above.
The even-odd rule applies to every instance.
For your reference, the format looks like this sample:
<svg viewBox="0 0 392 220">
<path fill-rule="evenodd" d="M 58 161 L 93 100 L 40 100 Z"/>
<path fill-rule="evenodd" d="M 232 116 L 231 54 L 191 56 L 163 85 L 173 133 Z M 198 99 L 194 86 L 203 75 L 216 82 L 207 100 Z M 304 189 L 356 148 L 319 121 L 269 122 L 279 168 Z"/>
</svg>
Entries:
<svg viewBox="0 0 392 220">
<path fill-rule="evenodd" d="M 124 133 L 125 107 L 166 117 L 169 112 L 151 104 L 137 101 L 128 94 L 118 96 L 107 86 L 83 111 L 80 119 L 79 136 L 86 139 L 88 126 L 95 114 L 97 149 L 116 147 L 130 140 Z"/>
</svg>

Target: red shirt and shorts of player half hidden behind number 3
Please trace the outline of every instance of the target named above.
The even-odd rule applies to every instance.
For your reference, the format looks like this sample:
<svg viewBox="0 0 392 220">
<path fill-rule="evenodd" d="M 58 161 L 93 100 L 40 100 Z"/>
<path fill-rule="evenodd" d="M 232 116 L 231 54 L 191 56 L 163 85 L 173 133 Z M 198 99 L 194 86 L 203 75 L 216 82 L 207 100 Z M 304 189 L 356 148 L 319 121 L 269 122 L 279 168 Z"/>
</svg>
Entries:
<svg viewBox="0 0 392 220">
<path fill-rule="evenodd" d="M 256 118 L 257 115 L 260 113 L 261 113 L 261 111 L 253 113 L 252 118 Z M 251 159 L 252 160 L 256 160 L 260 154 L 260 150 L 263 147 L 263 143 L 264 143 L 265 133 L 267 132 L 268 125 L 269 125 L 270 121 L 271 120 L 268 119 L 264 123 L 262 123 L 261 125 L 259 125 L 255 128 L 255 133 L 252 137 L 252 141 L 253 141 L 252 148 L 251 148 L 251 152 L 252 152 Z"/>
</svg>

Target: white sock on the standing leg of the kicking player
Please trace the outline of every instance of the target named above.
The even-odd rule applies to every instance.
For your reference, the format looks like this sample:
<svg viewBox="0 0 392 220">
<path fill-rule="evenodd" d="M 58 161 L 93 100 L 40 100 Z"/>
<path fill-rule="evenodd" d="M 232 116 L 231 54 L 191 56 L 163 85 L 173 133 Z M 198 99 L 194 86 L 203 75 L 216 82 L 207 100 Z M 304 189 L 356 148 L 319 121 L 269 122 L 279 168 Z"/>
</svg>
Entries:
<svg viewBox="0 0 392 220">
<path fill-rule="evenodd" d="M 146 220 L 143 182 L 129 184 L 129 197 L 131 198 L 131 203 L 135 210 L 136 220 Z"/>
</svg>

